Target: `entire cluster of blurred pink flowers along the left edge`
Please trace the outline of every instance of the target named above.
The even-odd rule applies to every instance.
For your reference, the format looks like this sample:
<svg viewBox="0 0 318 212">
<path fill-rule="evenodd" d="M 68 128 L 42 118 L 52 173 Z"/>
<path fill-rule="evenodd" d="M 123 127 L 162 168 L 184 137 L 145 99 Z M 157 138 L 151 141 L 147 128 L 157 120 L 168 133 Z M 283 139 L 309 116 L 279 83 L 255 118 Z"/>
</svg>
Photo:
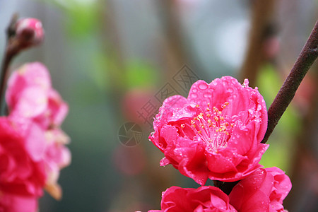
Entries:
<svg viewBox="0 0 318 212">
<path fill-rule="evenodd" d="M 25 64 L 8 79 L 8 117 L 0 117 L 0 211 L 34 212 L 45 188 L 61 197 L 57 183 L 71 153 L 60 129 L 68 105 L 52 88 L 40 63 Z"/>
</svg>

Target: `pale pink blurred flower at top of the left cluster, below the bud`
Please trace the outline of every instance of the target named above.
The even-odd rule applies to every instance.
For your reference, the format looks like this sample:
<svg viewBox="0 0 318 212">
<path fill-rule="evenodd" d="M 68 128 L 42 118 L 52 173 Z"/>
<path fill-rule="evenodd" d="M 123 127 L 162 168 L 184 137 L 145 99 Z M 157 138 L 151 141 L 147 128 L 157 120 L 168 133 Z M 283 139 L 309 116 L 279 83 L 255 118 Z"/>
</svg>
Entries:
<svg viewBox="0 0 318 212">
<path fill-rule="evenodd" d="M 6 102 L 12 115 L 33 119 L 43 129 L 59 126 L 69 110 L 52 88 L 49 71 L 39 62 L 25 64 L 12 73 Z"/>
</svg>

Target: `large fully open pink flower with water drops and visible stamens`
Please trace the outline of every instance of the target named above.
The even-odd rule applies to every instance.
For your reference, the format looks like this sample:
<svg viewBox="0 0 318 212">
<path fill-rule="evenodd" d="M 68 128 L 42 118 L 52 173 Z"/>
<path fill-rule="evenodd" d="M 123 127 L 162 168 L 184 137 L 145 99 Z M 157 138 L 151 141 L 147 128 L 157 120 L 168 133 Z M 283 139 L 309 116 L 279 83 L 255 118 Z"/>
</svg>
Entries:
<svg viewBox="0 0 318 212">
<path fill-rule="evenodd" d="M 267 111 L 257 89 L 224 76 L 197 81 L 188 98 L 167 98 L 153 122 L 149 139 L 172 164 L 203 185 L 208 178 L 234 182 L 257 170 L 268 148 L 261 143 Z"/>
</svg>

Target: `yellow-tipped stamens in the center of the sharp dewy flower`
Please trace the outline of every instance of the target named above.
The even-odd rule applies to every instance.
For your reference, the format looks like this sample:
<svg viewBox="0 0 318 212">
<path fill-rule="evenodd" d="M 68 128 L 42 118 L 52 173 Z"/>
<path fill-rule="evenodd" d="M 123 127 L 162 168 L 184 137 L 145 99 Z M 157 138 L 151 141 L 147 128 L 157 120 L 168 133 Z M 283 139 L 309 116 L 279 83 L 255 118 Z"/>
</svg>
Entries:
<svg viewBox="0 0 318 212">
<path fill-rule="evenodd" d="M 209 150 L 226 147 L 230 139 L 233 124 L 231 124 L 231 118 L 223 114 L 223 110 L 228 105 L 229 103 L 225 102 L 221 105 L 220 110 L 216 107 L 211 110 L 209 104 L 205 110 L 202 110 L 200 105 L 196 105 L 201 109 L 201 113 L 191 120 L 191 124 L 187 124 L 194 131 L 199 141 L 206 143 Z M 183 129 L 185 125 L 181 124 L 181 128 Z"/>
</svg>

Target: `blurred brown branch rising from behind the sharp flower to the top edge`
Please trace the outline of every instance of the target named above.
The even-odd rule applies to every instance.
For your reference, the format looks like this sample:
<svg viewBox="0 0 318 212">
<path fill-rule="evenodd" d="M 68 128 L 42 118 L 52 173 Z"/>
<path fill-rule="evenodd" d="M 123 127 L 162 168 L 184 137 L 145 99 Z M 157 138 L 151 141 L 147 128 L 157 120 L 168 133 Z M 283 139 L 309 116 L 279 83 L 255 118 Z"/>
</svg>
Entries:
<svg viewBox="0 0 318 212">
<path fill-rule="evenodd" d="M 249 86 L 256 86 L 257 72 L 264 63 L 264 41 L 273 28 L 273 8 L 275 0 L 252 1 L 252 23 L 245 60 L 240 71 L 240 81 L 249 79 Z"/>
</svg>

